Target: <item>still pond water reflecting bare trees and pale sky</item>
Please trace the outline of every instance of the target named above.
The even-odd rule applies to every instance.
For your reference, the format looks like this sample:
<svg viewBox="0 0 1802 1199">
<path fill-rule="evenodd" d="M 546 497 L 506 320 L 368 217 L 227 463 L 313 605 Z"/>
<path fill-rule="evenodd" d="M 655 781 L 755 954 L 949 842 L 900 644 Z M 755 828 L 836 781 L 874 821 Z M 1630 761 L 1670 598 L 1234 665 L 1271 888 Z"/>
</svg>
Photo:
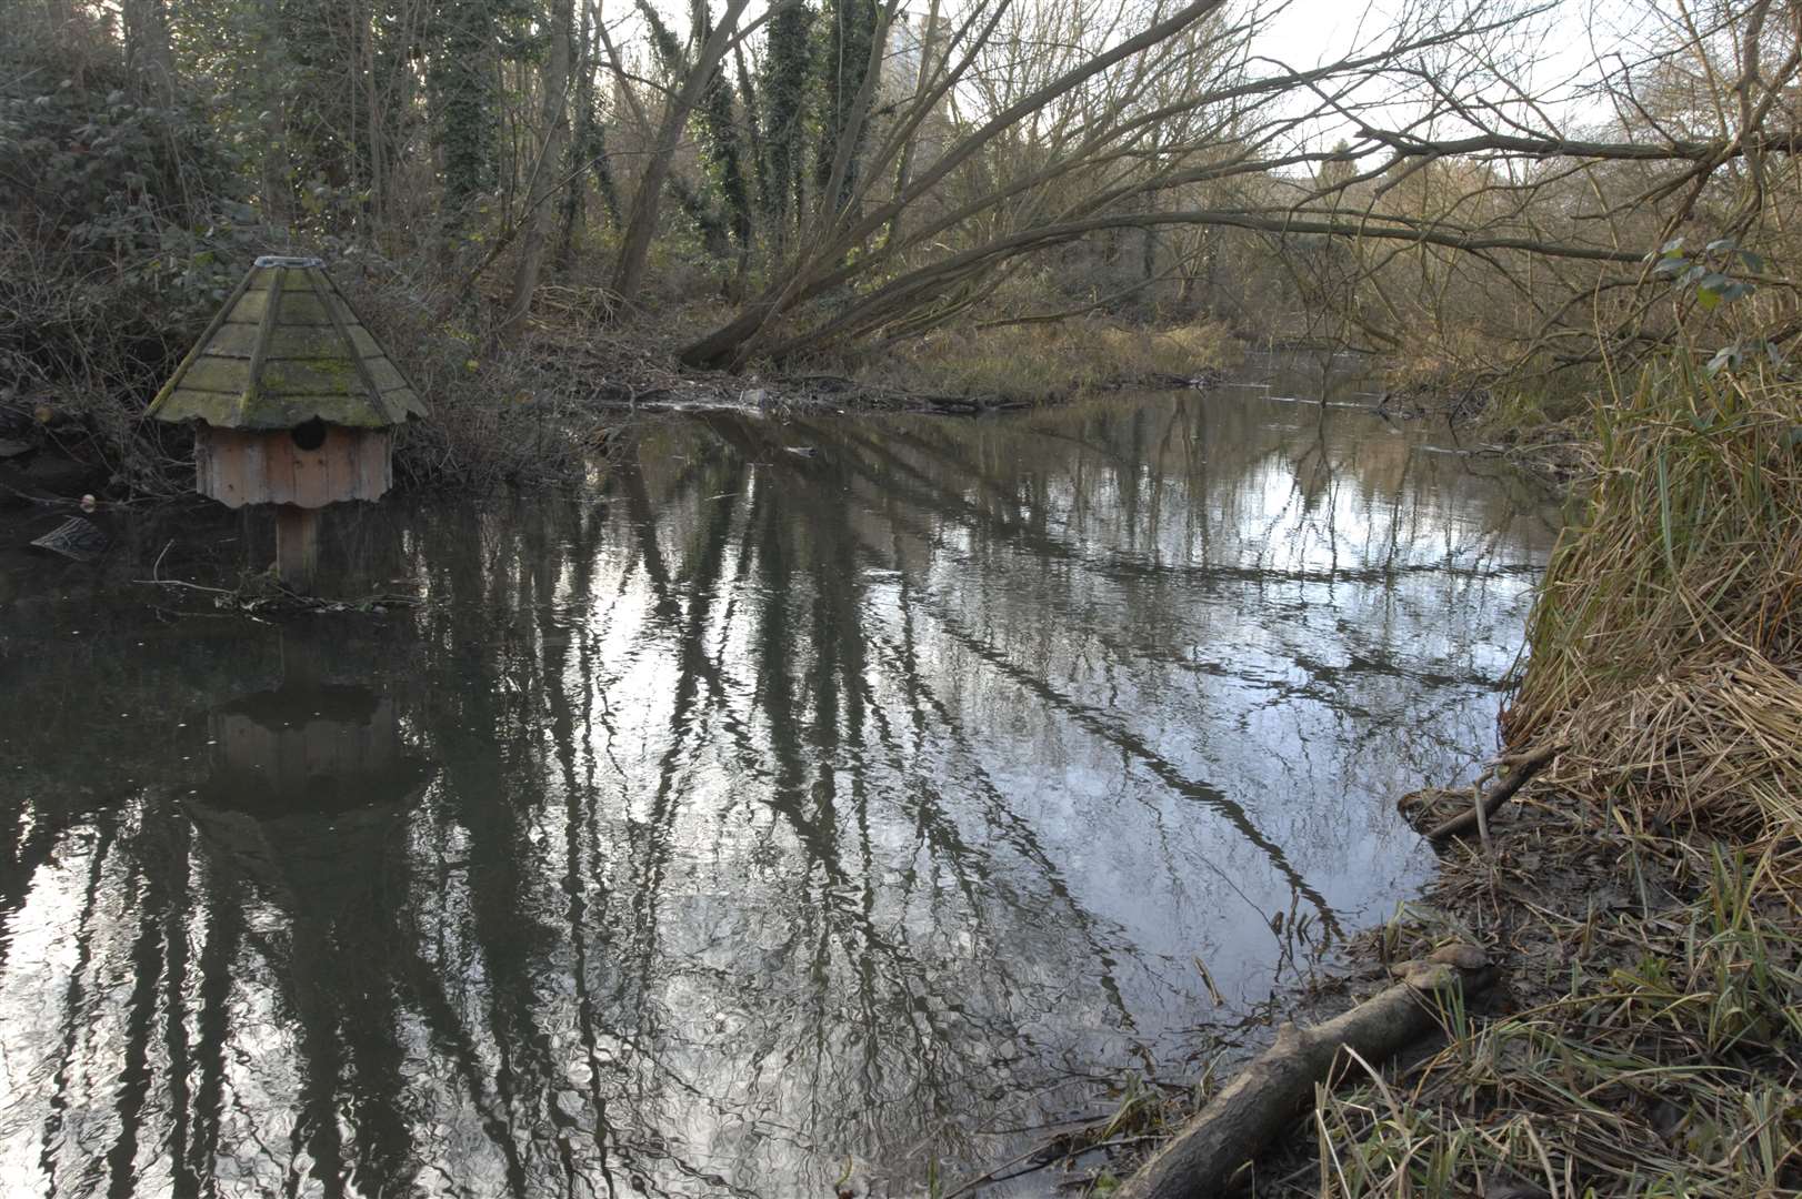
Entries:
<svg viewBox="0 0 1802 1199">
<path fill-rule="evenodd" d="M 7 517 L 0 1192 L 905 1194 L 1191 1077 L 1494 751 L 1555 518 L 1449 446 L 1233 387 L 672 418 L 582 495 L 333 509 L 323 587 L 423 603 L 283 619 L 133 581 L 267 515 Z"/>
</svg>

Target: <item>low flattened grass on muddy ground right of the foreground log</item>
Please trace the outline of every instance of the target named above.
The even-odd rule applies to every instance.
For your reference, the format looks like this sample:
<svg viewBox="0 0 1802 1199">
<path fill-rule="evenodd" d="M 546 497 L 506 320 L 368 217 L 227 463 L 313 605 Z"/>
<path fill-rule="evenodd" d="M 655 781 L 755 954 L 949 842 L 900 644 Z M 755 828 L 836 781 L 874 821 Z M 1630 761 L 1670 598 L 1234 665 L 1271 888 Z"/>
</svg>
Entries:
<svg viewBox="0 0 1802 1199">
<path fill-rule="evenodd" d="M 1625 837 L 1591 891 L 1548 895 L 1541 855 L 1582 853 L 1595 830 L 1546 819 L 1523 843 L 1449 871 L 1465 904 L 1510 907 L 1485 924 L 1512 956 L 1517 1010 L 1451 1012 L 1438 1053 L 1323 1093 L 1299 1194 L 1795 1194 L 1802 970 L 1770 857 Z M 1670 882 L 1694 902 L 1670 902 Z M 1386 933 L 1442 931 L 1411 913 Z"/>
</svg>

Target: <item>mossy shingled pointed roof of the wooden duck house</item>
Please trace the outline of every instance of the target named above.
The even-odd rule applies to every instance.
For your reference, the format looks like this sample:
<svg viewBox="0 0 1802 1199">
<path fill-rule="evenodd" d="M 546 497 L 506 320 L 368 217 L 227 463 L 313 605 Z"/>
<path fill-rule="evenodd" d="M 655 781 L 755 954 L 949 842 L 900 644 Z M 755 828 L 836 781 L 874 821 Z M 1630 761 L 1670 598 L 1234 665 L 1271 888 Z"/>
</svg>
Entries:
<svg viewBox="0 0 1802 1199">
<path fill-rule="evenodd" d="M 317 257 L 259 257 L 150 405 L 159 421 L 387 428 L 425 405 Z"/>
</svg>

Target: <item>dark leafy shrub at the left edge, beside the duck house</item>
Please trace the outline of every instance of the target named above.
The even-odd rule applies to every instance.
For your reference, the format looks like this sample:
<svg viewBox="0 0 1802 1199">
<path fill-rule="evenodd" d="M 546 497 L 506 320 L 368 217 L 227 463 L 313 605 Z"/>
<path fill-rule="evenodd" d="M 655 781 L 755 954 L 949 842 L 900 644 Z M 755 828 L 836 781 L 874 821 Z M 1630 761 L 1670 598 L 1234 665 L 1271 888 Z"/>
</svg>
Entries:
<svg viewBox="0 0 1802 1199">
<path fill-rule="evenodd" d="M 49 418 L 115 488 L 169 490 L 171 455 L 135 427 L 263 236 L 236 162 L 103 38 L 27 29 L 0 47 L 0 423 Z"/>
</svg>

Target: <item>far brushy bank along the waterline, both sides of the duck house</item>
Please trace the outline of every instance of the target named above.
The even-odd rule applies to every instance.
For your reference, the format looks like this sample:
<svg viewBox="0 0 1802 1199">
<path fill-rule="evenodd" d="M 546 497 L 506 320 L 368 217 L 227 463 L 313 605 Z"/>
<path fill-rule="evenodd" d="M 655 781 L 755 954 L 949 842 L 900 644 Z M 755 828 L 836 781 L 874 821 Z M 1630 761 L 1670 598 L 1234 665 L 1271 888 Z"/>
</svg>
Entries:
<svg viewBox="0 0 1802 1199">
<path fill-rule="evenodd" d="M 616 313 L 602 288 L 546 284 L 530 319 L 503 333 L 485 324 L 492 304 L 460 304 L 456 288 L 431 274 L 342 256 L 333 279 L 431 407 L 396 437 L 400 488 L 569 482 L 647 412 L 973 416 L 1193 387 L 1240 356 L 1238 342 L 1213 322 L 1079 317 L 971 324 L 782 369 L 696 371 L 678 351 L 719 319 L 717 302 Z M 85 493 L 144 502 L 189 491 L 186 430 L 142 412 L 207 315 L 171 313 L 150 342 L 115 335 L 96 311 L 59 374 L 0 389 L 0 504 Z"/>
</svg>

